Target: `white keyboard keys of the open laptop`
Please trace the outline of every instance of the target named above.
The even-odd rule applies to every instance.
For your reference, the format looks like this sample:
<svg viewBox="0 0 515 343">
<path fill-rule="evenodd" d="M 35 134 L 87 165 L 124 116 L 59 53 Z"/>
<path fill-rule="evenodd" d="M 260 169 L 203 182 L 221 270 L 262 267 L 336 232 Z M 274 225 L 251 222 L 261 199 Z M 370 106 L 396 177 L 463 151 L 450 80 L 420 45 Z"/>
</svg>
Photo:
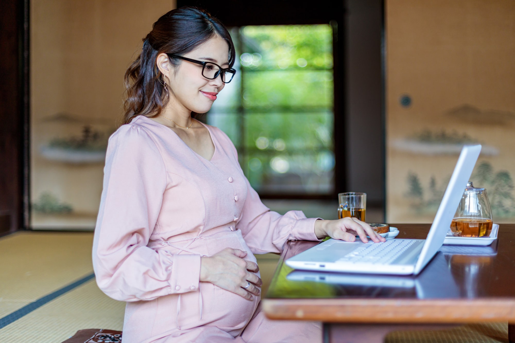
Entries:
<svg viewBox="0 0 515 343">
<path fill-rule="evenodd" d="M 391 239 L 383 243 L 369 243 L 357 248 L 336 262 L 389 264 L 417 241 Z"/>
</svg>

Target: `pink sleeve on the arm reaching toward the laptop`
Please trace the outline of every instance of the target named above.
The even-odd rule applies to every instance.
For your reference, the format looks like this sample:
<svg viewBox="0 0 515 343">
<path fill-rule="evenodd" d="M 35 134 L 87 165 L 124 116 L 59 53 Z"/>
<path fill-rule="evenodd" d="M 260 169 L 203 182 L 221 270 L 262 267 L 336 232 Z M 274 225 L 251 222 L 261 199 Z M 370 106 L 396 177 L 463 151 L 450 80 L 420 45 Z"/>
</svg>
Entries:
<svg viewBox="0 0 515 343">
<path fill-rule="evenodd" d="M 232 147 L 237 163 L 238 153 L 234 144 L 224 132 L 218 131 L 224 143 Z M 242 230 L 252 253 L 282 252 L 286 241 L 291 239 L 319 241 L 315 235 L 315 220 L 321 218 L 306 218 L 302 211 L 288 211 L 284 215 L 270 211 L 243 175 L 241 167 L 240 171 L 247 184 L 247 197 L 236 228 Z"/>
</svg>

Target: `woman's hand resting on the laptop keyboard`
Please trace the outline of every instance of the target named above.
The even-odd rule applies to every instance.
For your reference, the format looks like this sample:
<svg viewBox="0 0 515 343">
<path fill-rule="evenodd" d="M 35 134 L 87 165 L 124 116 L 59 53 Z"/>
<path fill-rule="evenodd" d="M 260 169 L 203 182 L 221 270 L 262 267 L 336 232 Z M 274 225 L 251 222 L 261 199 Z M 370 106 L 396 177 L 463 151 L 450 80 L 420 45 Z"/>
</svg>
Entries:
<svg viewBox="0 0 515 343">
<path fill-rule="evenodd" d="M 359 236 L 364 243 L 368 242 L 368 235 L 374 243 L 386 242 L 386 238 L 375 232 L 370 225 L 354 217 L 345 217 L 338 220 L 316 220 L 315 234 L 318 238 L 329 236 L 347 242 L 354 242 L 356 236 Z"/>
</svg>

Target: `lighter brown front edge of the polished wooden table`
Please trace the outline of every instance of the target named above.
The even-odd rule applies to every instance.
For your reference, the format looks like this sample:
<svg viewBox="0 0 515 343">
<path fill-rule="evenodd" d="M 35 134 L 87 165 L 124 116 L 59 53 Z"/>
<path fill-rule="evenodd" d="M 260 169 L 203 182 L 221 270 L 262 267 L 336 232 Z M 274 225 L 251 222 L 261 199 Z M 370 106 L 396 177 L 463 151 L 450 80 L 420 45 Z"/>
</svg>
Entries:
<svg viewBox="0 0 515 343">
<path fill-rule="evenodd" d="M 355 323 L 515 322 L 514 298 L 263 299 L 269 319 Z"/>
</svg>

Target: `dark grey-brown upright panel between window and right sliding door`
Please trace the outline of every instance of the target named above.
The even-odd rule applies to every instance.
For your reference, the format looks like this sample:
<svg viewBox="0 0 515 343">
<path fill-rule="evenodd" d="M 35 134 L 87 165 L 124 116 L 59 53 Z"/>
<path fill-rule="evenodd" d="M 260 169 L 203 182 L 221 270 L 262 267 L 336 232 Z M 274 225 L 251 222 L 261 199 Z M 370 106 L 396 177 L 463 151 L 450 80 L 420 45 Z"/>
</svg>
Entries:
<svg viewBox="0 0 515 343">
<path fill-rule="evenodd" d="M 367 193 L 367 206 L 385 204 L 382 84 L 383 0 L 345 0 L 347 184 Z M 359 190 L 359 191 L 357 191 Z"/>
</svg>

